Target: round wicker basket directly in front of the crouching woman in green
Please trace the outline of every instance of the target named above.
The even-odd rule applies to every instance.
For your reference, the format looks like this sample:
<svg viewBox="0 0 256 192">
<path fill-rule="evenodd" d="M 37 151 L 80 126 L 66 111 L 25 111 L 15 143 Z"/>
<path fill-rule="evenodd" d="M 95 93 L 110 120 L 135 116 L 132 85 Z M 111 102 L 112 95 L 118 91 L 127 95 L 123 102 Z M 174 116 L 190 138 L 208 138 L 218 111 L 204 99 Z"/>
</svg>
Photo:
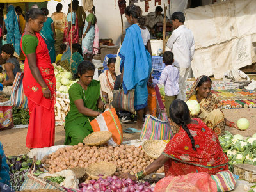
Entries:
<svg viewBox="0 0 256 192">
<path fill-rule="evenodd" d="M 112 133 L 109 131 L 97 131 L 86 136 L 83 142 L 85 145 L 98 146 L 107 143 L 111 137 Z"/>
</svg>

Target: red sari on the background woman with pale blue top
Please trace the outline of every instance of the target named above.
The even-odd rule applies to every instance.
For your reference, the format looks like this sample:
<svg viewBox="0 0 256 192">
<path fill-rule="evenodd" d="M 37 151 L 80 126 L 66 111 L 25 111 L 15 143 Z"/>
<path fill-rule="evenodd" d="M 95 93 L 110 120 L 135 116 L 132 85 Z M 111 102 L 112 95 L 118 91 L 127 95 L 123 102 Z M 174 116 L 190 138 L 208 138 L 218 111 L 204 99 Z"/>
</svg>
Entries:
<svg viewBox="0 0 256 192">
<path fill-rule="evenodd" d="M 71 21 L 71 24 L 72 24 L 72 21 Z M 78 26 L 77 16 L 76 16 L 76 24 L 71 25 L 71 29 L 68 34 L 68 38 L 67 38 L 67 33 L 68 33 L 68 22 L 66 19 L 63 42 L 64 43 L 68 42 L 69 45 L 71 45 L 71 42 L 72 42 L 72 44 L 76 44 L 79 42 L 79 26 Z M 71 34 L 72 34 L 72 38 L 71 38 Z"/>
</svg>

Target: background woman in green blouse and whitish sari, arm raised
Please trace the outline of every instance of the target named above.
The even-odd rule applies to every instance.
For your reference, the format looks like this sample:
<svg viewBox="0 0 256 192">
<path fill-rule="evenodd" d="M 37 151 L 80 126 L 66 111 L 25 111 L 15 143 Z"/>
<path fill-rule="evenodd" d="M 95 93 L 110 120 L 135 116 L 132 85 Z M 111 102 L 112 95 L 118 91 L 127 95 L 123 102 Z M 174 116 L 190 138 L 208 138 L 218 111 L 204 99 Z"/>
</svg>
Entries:
<svg viewBox="0 0 256 192">
<path fill-rule="evenodd" d="M 83 47 L 83 55 L 84 60 L 92 61 L 92 51 L 93 51 L 93 41 L 95 36 L 95 7 L 93 6 L 92 10 L 89 11 L 89 15 L 85 19 L 84 23 L 84 30 L 83 30 L 83 40 L 82 40 L 82 47 Z"/>
</svg>

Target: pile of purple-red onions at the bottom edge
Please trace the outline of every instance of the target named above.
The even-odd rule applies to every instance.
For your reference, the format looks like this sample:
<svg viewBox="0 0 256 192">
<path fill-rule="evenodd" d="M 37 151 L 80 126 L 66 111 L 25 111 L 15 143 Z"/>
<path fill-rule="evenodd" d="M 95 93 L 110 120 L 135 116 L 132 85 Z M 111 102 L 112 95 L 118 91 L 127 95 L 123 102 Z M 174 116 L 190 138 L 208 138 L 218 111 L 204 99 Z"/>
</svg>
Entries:
<svg viewBox="0 0 256 192">
<path fill-rule="evenodd" d="M 89 184 L 79 184 L 81 192 L 153 192 L 149 182 L 134 182 L 131 179 L 119 179 L 108 176 L 107 179 L 90 180 Z"/>
</svg>

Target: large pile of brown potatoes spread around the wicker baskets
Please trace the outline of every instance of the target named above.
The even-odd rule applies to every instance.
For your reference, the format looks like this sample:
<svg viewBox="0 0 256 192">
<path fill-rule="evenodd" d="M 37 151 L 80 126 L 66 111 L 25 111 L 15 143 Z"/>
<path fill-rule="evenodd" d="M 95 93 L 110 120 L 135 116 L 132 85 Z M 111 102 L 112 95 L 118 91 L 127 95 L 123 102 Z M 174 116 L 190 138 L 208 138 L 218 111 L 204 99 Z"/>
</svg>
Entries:
<svg viewBox="0 0 256 192">
<path fill-rule="evenodd" d="M 116 165 L 115 175 L 122 173 L 137 173 L 144 170 L 154 159 L 150 159 L 145 152 L 134 145 L 93 146 L 78 145 L 59 148 L 56 152 L 45 156 L 42 159 L 44 168 L 49 173 L 60 172 L 67 168 L 86 168 L 89 164 L 100 161 L 108 161 Z M 160 168 L 157 173 L 163 173 Z"/>
</svg>

